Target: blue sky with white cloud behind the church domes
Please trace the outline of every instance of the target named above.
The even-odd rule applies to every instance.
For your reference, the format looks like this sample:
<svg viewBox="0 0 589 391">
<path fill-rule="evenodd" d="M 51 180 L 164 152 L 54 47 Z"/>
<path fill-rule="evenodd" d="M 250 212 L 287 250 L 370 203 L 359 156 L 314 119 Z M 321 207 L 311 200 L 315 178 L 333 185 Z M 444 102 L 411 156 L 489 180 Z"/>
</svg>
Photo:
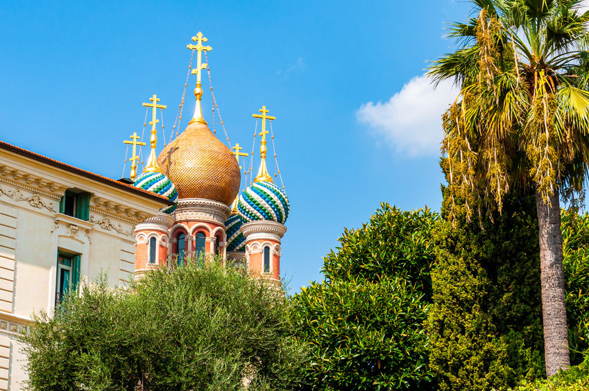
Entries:
<svg viewBox="0 0 589 391">
<path fill-rule="evenodd" d="M 420 76 L 452 49 L 445 23 L 469 11 L 452 0 L 4 2 L 0 139 L 118 179 L 122 141 L 141 130 L 152 94 L 169 107 L 169 137 L 186 45 L 203 31 L 232 143 L 251 148 L 262 105 L 277 117 L 291 200 L 281 267 L 296 291 L 380 202 L 439 210 L 439 116 L 455 92 Z M 206 76 L 203 87 L 212 126 Z"/>
</svg>

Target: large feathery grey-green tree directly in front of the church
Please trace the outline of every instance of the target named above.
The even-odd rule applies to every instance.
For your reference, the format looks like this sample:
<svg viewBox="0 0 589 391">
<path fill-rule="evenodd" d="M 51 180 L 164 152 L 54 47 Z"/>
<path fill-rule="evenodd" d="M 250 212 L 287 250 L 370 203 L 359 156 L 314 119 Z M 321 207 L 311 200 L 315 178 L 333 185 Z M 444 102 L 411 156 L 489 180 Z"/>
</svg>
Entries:
<svg viewBox="0 0 589 391">
<path fill-rule="evenodd" d="M 24 336 L 33 390 L 283 390 L 305 360 L 283 295 L 216 263 L 105 281 Z"/>
</svg>

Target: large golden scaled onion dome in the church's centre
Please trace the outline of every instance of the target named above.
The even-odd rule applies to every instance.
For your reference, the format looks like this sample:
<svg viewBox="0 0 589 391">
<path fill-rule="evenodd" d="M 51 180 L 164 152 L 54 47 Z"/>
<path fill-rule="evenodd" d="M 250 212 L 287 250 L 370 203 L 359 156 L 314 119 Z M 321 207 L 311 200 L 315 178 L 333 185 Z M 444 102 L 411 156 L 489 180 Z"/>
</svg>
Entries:
<svg viewBox="0 0 589 391">
<path fill-rule="evenodd" d="M 189 123 L 162 150 L 157 163 L 178 189 L 178 198 L 205 198 L 231 205 L 241 183 L 239 164 L 206 123 Z"/>
</svg>

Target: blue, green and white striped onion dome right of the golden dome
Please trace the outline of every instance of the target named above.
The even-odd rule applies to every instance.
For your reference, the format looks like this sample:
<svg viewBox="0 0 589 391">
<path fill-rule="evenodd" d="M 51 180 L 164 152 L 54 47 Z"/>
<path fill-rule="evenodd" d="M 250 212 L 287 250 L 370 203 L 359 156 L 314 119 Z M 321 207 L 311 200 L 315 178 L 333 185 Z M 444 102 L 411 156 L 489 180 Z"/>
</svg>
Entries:
<svg viewBox="0 0 589 391">
<path fill-rule="evenodd" d="M 237 212 L 246 222 L 270 220 L 284 224 L 289 217 L 289 199 L 272 182 L 254 182 L 239 195 Z"/>
</svg>

